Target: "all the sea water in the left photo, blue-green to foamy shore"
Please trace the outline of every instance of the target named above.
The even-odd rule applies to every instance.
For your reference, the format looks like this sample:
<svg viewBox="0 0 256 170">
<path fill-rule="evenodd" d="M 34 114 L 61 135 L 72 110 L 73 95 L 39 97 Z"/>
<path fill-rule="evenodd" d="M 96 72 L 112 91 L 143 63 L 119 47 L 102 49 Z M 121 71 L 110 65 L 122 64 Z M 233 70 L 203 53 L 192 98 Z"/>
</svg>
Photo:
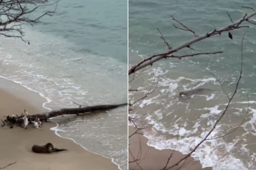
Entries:
<svg viewBox="0 0 256 170">
<path fill-rule="evenodd" d="M 2 77 L 37 91 L 50 110 L 127 101 L 127 1 L 61 0 L 40 21 L 24 26 L 30 45 L 1 37 Z M 127 107 L 57 123 L 61 137 L 127 168 Z"/>
</svg>

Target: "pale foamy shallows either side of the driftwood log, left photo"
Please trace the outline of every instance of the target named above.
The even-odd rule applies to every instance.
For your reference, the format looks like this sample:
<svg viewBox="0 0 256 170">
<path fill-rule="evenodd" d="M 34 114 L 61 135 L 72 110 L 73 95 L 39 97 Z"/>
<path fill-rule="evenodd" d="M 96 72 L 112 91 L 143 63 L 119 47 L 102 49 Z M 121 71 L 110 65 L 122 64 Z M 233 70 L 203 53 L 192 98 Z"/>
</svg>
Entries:
<svg viewBox="0 0 256 170">
<path fill-rule="evenodd" d="M 36 35 L 33 35 L 33 33 L 35 32 L 28 31 L 27 33 L 27 38 L 35 40 L 34 43 L 30 43 L 30 46 L 26 46 L 18 42 L 18 40 L 3 39 L 4 43 L 1 44 L 2 50 L 0 56 L 4 62 L 1 65 L 0 71 L 1 77 L 16 82 L 31 91 L 39 93 L 43 98 L 46 98 L 46 102 L 43 103 L 44 108 L 54 110 L 58 108 L 76 107 L 73 101 L 82 105 L 114 103 L 119 96 L 123 96 L 123 94 L 126 95 L 125 91 L 123 91 L 123 89 L 126 88 L 126 83 L 119 81 L 119 77 L 123 77 L 123 74 L 125 74 L 125 64 L 121 64 L 117 60 L 108 57 L 102 57 L 101 61 L 95 60 L 95 57 L 99 56 L 79 54 L 73 50 L 69 50 L 69 48 L 65 48 L 68 44 L 66 44 L 64 40 L 46 37 L 37 32 L 35 33 Z M 36 43 L 36 41 L 38 42 Z M 70 45 L 68 46 L 70 47 Z M 13 49 L 9 50 L 9 47 L 13 47 Z M 71 60 L 67 59 L 75 55 L 78 57 Z M 84 55 L 86 55 L 86 57 L 84 57 Z M 63 62 L 59 62 L 59 60 L 63 60 Z M 79 62 L 77 62 L 78 60 Z M 82 67 L 80 62 L 82 62 Z M 52 67 L 52 65 L 54 65 L 54 67 Z M 66 69 L 63 70 L 63 68 Z M 104 86 L 102 86 L 102 82 L 104 82 Z M 111 84 L 117 87 L 115 90 L 111 89 L 111 93 L 109 93 L 106 89 L 113 87 Z M 126 109 L 121 108 L 118 113 L 110 112 L 108 116 L 104 118 L 100 117 L 99 120 L 106 122 L 113 121 L 113 126 L 119 126 L 119 124 L 125 125 L 127 117 L 124 113 L 126 113 Z M 107 123 L 105 125 L 107 125 Z M 91 127 L 94 126 L 97 127 L 96 122 L 94 125 L 91 125 Z M 71 130 L 65 130 L 63 127 L 64 125 L 61 127 L 58 126 L 52 128 L 52 130 L 56 130 L 56 134 L 57 132 L 61 133 L 62 137 L 66 138 L 68 136 L 67 138 L 73 141 L 79 140 L 82 134 L 80 134 L 79 137 L 69 136 Z M 102 128 L 104 128 L 104 125 L 102 125 Z M 111 128 L 120 129 L 116 127 Z M 94 128 L 94 130 L 97 131 L 97 128 Z M 105 132 L 105 134 L 109 135 L 109 138 L 113 138 L 112 133 L 109 133 L 112 131 L 113 130 L 109 130 Z M 119 133 L 121 132 L 118 132 L 118 134 Z M 87 135 L 89 134 L 90 133 L 87 132 Z M 122 134 L 126 137 L 125 133 Z M 113 142 L 115 141 L 111 140 L 106 142 L 106 144 L 99 145 L 105 147 L 103 150 L 108 150 L 107 145 L 111 148 Z M 127 157 L 125 158 L 123 155 L 127 154 L 125 154 L 125 150 L 122 149 L 121 145 L 119 145 L 120 150 L 115 150 L 117 155 L 114 156 L 113 150 L 109 150 L 109 153 L 112 152 L 112 154 L 101 153 L 100 150 L 97 150 L 98 147 L 88 146 L 85 140 L 79 143 L 81 146 L 83 145 L 83 148 L 87 147 L 90 152 L 96 152 L 97 154 L 112 159 L 115 164 L 119 164 L 119 169 L 126 167 L 123 162 L 125 162 L 125 164 L 127 163 Z M 97 142 L 92 142 L 92 144 L 97 144 Z M 120 142 L 120 144 L 126 147 L 124 142 Z"/>
</svg>

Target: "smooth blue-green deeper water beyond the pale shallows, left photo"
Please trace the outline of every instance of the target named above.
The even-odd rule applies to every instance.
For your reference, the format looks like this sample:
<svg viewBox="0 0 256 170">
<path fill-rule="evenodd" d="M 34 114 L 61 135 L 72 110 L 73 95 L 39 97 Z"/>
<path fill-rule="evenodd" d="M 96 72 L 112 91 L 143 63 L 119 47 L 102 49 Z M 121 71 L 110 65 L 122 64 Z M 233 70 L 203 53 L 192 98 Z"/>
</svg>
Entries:
<svg viewBox="0 0 256 170">
<path fill-rule="evenodd" d="M 42 6 L 31 16 L 54 8 Z M 64 38 L 75 45 L 76 52 L 127 63 L 127 20 L 127 1 L 62 0 L 54 17 L 42 18 L 34 29 Z"/>
</svg>

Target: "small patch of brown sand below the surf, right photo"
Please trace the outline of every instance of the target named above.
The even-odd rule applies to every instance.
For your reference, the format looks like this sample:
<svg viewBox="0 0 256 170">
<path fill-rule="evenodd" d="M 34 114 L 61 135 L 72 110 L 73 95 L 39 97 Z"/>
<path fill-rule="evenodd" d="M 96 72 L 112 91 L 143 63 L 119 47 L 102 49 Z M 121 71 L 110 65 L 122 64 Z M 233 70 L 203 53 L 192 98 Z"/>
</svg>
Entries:
<svg viewBox="0 0 256 170">
<path fill-rule="evenodd" d="M 135 132 L 134 127 L 129 127 L 129 136 Z M 179 161 L 181 158 L 183 158 L 185 155 L 181 154 L 178 151 L 170 150 L 170 149 L 164 149 L 164 150 L 157 150 L 154 147 L 150 147 L 147 145 L 148 139 L 143 137 L 142 135 L 135 134 L 129 139 L 129 159 L 128 161 L 133 161 L 133 157 L 137 159 L 137 156 L 140 157 L 140 161 L 137 161 L 139 166 L 133 162 L 129 163 L 129 169 L 143 169 L 143 170 L 157 170 L 162 169 L 164 166 L 166 166 L 166 162 L 168 161 L 168 157 L 173 152 L 173 156 L 171 157 L 168 166 L 173 165 L 175 162 Z M 140 147 L 141 146 L 141 147 Z M 142 150 L 140 152 L 140 156 L 138 155 L 138 150 Z M 133 157 L 131 156 L 133 155 Z M 199 161 L 194 161 L 192 157 L 188 157 L 186 159 L 185 164 L 181 166 L 183 162 L 180 163 L 179 166 L 174 167 L 172 170 L 201 170 L 202 165 Z M 180 168 L 181 166 L 181 168 Z M 211 170 L 212 168 L 207 167 L 204 168 L 204 170 Z"/>
</svg>

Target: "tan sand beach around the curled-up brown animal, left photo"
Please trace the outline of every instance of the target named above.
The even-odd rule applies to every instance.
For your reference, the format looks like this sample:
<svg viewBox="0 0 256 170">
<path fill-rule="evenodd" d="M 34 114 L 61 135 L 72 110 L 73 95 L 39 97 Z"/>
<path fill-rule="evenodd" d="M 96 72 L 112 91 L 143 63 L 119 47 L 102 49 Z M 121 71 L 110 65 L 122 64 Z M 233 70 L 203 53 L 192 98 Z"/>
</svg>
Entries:
<svg viewBox="0 0 256 170">
<path fill-rule="evenodd" d="M 19 84 L 0 79 L 0 118 L 4 115 L 20 115 L 24 109 L 30 115 L 46 111 L 42 103 L 46 102 L 39 94 L 23 88 Z M 72 140 L 58 137 L 54 131 L 56 123 L 44 123 L 42 131 L 31 125 L 25 130 L 21 127 L 0 127 L 0 167 L 17 170 L 79 170 L 79 169 L 118 169 L 110 159 L 88 152 Z M 35 154 L 34 144 L 44 145 L 51 142 L 55 147 L 68 151 L 52 154 Z M 1 168 L 0 168 L 1 169 Z"/>
</svg>

